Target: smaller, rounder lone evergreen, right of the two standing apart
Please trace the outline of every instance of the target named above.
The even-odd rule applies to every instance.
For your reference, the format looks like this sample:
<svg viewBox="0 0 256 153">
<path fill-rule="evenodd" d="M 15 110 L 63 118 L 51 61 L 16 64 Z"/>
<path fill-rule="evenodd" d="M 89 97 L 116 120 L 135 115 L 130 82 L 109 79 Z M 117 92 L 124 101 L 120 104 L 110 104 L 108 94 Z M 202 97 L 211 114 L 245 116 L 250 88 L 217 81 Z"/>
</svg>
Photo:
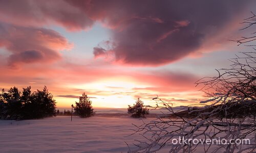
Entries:
<svg viewBox="0 0 256 153">
<path fill-rule="evenodd" d="M 141 101 L 140 98 L 137 99 L 133 107 L 128 105 L 127 112 L 128 114 L 132 114 L 134 118 L 145 117 L 145 114 L 150 113 L 147 107 L 144 107 L 143 101 Z"/>
</svg>

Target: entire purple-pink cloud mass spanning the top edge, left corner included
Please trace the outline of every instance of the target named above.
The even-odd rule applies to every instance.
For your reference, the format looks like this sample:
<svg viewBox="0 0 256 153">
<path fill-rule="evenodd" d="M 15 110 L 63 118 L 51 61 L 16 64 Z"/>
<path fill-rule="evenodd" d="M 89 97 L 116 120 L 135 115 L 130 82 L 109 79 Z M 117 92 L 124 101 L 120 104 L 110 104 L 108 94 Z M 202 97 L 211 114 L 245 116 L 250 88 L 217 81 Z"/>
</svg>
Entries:
<svg viewBox="0 0 256 153">
<path fill-rule="evenodd" d="M 58 24 L 71 31 L 88 29 L 100 21 L 112 30 L 112 46 L 111 49 L 95 47 L 95 57 L 110 53 L 117 63 L 155 66 L 197 52 L 207 38 L 231 27 L 230 23 L 250 3 L 221 0 L 1 1 L 0 18 L 18 25 Z"/>
</svg>

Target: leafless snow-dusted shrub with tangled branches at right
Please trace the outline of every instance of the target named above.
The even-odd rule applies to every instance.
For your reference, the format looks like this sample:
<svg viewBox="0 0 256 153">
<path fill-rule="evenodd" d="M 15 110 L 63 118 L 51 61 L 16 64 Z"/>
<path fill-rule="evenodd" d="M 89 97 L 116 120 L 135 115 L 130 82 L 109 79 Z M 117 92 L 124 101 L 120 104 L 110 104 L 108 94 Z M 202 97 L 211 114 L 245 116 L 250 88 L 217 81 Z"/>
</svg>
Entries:
<svg viewBox="0 0 256 153">
<path fill-rule="evenodd" d="M 253 14 L 245 19 L 244 23 L 249 25 L 244 29 L 251 27 L 255 22 Z M 248 43 L 255 40 L 255 37 L 243 37 L 237 42 Z M 128 152 L 157 152 L 163 148 L 167 148 L 169 152 L 254 152 L 255 49 L 253 52 L 240 53 L 230 61 L 231 67 L 217 70 L 217 77 L 206 77 L 196 82 L 196 86 L 201 86 L 201 91 L 208 97 L 197 107 L 189 106 L 187 110 L 175 111 L 172 103 L 165 103 L 158 97 L 153 98 L 157 102 L 155 108 L 165 108 L 168 113 L 163 113 L 156 120 L 143 122 L 140 126 L 135 125 L 135 134 L 140 134 L 144 140 L 136 140 L 135 148 L 128 145 Z M 176 143 L 174 139 L 179 142 Z M 193 142 L 195 139 L 204 142 Z M 212 141 L 207 144 L 207 139 L 219 140 L 219 143 Z M 250 144 L 245 143 L 247 140 Z"/>
</svg>

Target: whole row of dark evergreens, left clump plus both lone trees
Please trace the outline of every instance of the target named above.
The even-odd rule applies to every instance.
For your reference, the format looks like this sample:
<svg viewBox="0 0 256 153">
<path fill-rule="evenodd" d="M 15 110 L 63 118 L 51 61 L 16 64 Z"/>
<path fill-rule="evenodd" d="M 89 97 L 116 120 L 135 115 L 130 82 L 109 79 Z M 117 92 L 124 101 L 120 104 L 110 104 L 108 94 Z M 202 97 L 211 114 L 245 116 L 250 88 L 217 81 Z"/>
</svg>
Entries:
<svg viewBox="0 0 256 153">
<path fill-rule="evenodd" d="M 128 106 L 127 113 L 131 117 L 145 117 L 149 110 L 144 107 L 143 101 L 139 98 L 133 106 Z M 56 101 L 53 95 L 45 86 L 42 90 L 31 91 L 31 86 L 19 91 L 17 87 L 12 87 L 8 91 L 5 89 L 0 93 L 0 119 L 39 119 L 53 117 L 56 115 L 70 116 L 69 110 L 64 112 L 56 111 Z M 75 102 L 74 115 L 81 118 L 91 117 L 95 114 L 92 101 L 86 93 L 82 93 L 79 102 Z"/>
</svg>

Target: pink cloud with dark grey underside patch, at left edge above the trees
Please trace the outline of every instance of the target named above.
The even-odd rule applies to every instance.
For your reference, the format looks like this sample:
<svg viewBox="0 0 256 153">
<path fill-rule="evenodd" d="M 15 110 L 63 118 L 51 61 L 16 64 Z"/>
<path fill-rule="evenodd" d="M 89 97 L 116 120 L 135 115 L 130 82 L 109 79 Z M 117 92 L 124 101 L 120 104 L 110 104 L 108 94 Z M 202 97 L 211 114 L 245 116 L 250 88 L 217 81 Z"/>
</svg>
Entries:
<svg viewBox="0 0 256 153">
<path fill-rule="evenodd" d="M 11 52 L 8 63 L 50 62 L 60 59 L 58 50 L 71 44 L 59 33 L 44 28 L 26 28 L 0 22 L 0 47 Z"/>
</svg>

